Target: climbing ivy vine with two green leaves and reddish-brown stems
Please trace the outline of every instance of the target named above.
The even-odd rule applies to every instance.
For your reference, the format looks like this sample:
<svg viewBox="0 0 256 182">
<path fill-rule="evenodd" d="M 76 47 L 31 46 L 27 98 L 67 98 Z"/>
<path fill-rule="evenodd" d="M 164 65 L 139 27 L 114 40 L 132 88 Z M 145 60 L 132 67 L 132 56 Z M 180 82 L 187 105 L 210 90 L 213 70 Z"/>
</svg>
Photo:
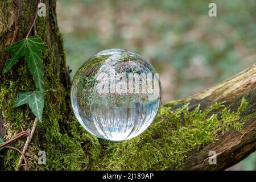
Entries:
<svg viewBox="0 0 256 182">
<path fill-rule="evenodd" d="M 39 1 L 40 5 L 41 0 Z M 3 137 L 0 135 L 0 151 L 3 148 L 10 148 L 12 150 L 18 151 L 20 153 L 20 159 L 18 163 L 17 170 L 20 169 L 22 166 L 22 162 L 24 160 L 24 169 L 27 170 L 27 160 L 25 157 L 26 150 L 28 145 L 31 142 L 31 138 L 35 132 L 36 125 L 39 122 L 42 122 L 42 115 L 44 109 L 44 65 L 42 59 L 42 50 L 46 49 L 46 44 L 43 43 L 42 39 L 39 36 L 30 36 L 31 30 L 35 28 L 36 18 L 38 16 L 38 9 L 36 9 L 35 18 L 33 23 L 30 27 L 30 30 L 27 33 L 25 39 L 19 40 L 18 42 L 12 44 L 11 46 L 7 47 L 4 51 L 11 53 L 11 59 L 7 60 L 5 66 L 3 67 L 3 73 L 7 73 L 11 68 L 14 67 L 16 63 L 18 63 L 19 59 L 24 58 L 27 63 L 27 67 L 32 75 L 32 78 L 35 82 L 36 89 L 30 92 L 23 92 L 18 94 L 18 99 L 14 102 L 14 106 L 18 107 L 24 104 L 28 104 L 32 113 L 35 115 L 34 125 L 31 129 L 31 133 L 28 131 L 22 131 L 19 134 L 15 135 L 15 137 L 4 141 Z M 49 89 L 55 91 L 54 89 Z M 26 143 L 22 151 L 18 148 L 7 146 L 14 140 L 23 137 L 24 135 L 27 136 Z"/>
</svg>

